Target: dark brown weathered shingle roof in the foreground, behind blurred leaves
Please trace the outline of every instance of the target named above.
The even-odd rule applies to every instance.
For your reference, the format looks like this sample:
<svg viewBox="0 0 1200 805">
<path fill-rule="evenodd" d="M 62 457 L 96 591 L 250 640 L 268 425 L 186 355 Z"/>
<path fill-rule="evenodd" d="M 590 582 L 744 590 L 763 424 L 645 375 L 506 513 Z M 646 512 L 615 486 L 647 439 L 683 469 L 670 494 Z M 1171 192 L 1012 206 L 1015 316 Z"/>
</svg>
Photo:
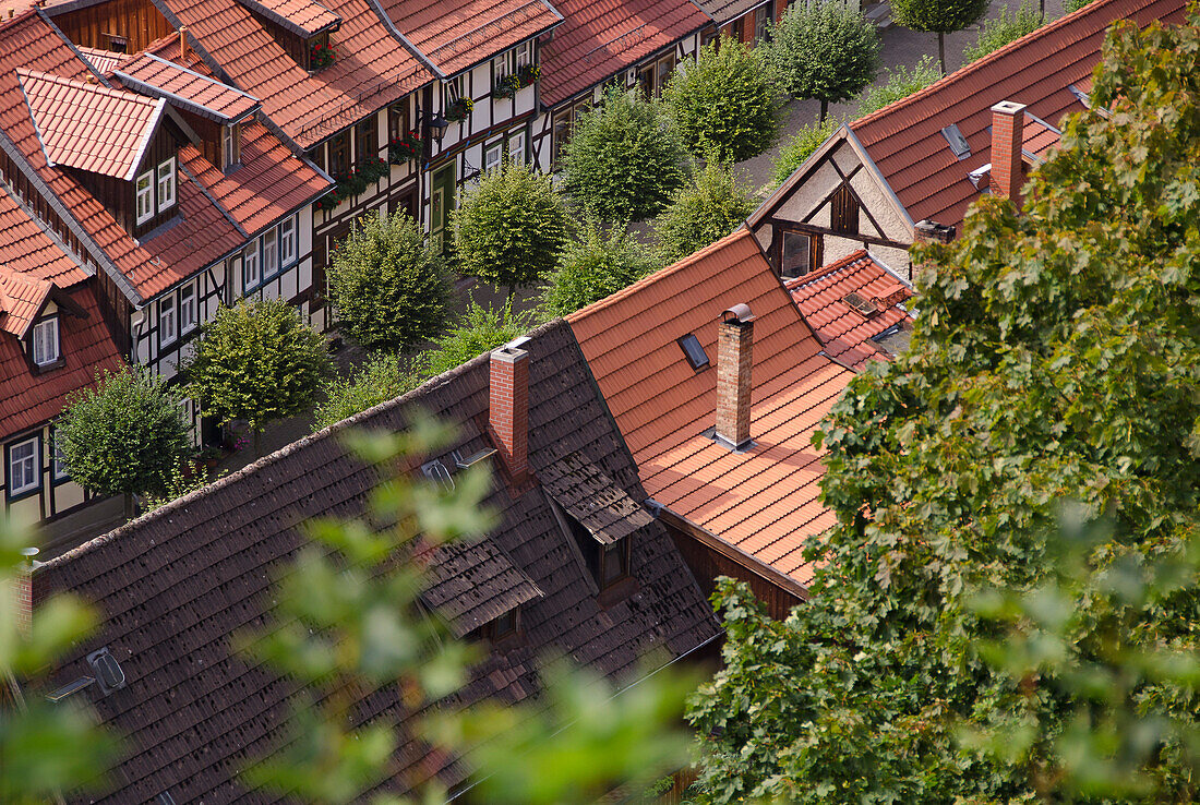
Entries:
<svg viewBox="0 0 1200 805">
<path fill-rule="evenodd" d="M 637 470 L 596 396 L 570 328 L 560 320 L 545 325 L 524 349 L 530 355 L 534 473 L 580 452 L 625 494 L 643 499 Z M 469 423 L 486 421 L 487 404 L 485 355 L 352 423 L 401 429 L 414 407 Z M 295 525 L 313 515 L 361 511 L 379 481 L 376 469 L 342 446 L 338 437 L 348 426 L 284 447 L 36 571 L 40 589 L 71 589 L 103 613 L 100 632 L 54 668 L 55 683 L 78 677 L 84 656 L 101 645 L 128 679 L 124 690 L 107 697 L 95 696 L 95 689 L 83 693 L 94 698 L 101 720 L 126 738 L 126 753 L 112 776 L 116 787 L 95 801 L 152 801 L 161 792 L 178 803 L 242 797 L 259 801 L 242 788 L 239 770 L 277 740 L 287 702 L 296 691 L 232 655 L 229 636 L 260 617 L 271 575 L 301 545 Z M 479 433 L 468 428 L 451 446 L 463 455 L 491 446 Z M 451 446 L 438 457 L 454 467 Z M 484 696 L 528 697 L 538 689 L 546 650 L 618 674 L 632 672 L 652 649 L 679 656 L 718 633 L 712 611 L 659 523 L 634 535 L 638 594 L 601 608 L 568 542 L 571 537 L 559 528 L 540 488 L 514 497 L 500 485 L 486 503 L 502 517 L 485 540 L 494 551 L 464 558 L 464 569 L 492 572 L 502 569 L 496 557 L 503 554 L 542 596 L 522 607 L 526 644 L 493 651 L 448 705 Z M 512 600 L 499 588 L 514 581 L 505 576 L 496 595 Z M 362 717 L 395 723 L 401 717 L 395 697 L 395 686 L 372 695 L 362 703 Z M 402 750 L 401 765 L 418 777 L 443 769 L 450 776 L 463 773 L 452 758 L 412 744 Z"/>
</svg>

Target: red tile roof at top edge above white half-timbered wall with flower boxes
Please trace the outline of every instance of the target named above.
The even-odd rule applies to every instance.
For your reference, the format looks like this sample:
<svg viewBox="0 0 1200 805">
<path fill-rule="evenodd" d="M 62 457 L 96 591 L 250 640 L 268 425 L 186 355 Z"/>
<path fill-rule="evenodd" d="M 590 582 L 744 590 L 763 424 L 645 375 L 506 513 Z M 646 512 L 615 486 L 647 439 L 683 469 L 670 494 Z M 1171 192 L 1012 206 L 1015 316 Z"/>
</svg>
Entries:
<svg viewBox="0 0 1200 805">
<path fill-rule="evenodd" d="M 380 0 L 384 12 L 438 70 L 461 72 L 550 30 L 546 0 Z"/>
</svg>

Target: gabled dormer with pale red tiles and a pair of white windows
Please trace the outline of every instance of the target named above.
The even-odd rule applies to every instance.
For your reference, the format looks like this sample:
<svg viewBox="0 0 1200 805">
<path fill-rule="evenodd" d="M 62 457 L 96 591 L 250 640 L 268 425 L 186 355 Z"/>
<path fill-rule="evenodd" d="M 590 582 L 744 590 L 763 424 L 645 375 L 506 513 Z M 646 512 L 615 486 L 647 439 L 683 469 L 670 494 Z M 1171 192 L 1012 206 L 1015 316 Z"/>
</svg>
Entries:
<svg viewBox="0 0 1200 805">
<path fill-rule="evenodd" d="M 46 161 L 70 172 L 133 238 L 179 214 L 179 148 L 194 137 L 162 98 L 17 71 Z"/>
</svg>

